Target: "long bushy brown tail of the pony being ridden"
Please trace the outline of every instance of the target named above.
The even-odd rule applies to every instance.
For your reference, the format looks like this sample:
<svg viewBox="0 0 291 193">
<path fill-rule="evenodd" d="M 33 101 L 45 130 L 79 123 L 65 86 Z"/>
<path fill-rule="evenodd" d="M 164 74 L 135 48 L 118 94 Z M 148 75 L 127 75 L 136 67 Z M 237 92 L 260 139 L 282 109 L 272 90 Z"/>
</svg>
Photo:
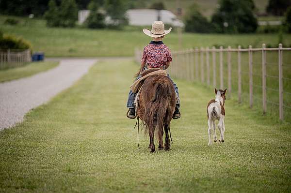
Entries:
<svg viewBox="0 0 291 193">
<path fill-rule="evenodd" d="M 146 104 L 145 122 L 147 126 L 145 134 L 147 131 L 149 134 L 153 134 L 156 128 L 156 139 L 162 140 L 163 124 L 170 105 L 170 92 L 173 90 L 173 83 L 165 78 L 160 78 L 157 80 L 154 90 L 155 95 Z"/>
</svg>

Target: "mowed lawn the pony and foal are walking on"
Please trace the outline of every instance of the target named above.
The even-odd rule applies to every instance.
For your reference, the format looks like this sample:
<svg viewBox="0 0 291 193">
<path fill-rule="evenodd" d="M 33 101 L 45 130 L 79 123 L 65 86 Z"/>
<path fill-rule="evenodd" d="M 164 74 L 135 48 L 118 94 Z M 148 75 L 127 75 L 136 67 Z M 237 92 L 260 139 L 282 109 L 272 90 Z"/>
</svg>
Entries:
<svg viewBox="0 0 291 193">
<path fill-rule="evenodd" d="M 72 88 L 0 132 L 0 192 L 291 192 L 291 126 L 226 100 L 225 143 L 208 146 L 213 89 L 178 81 L 171 151 L 126 118 L 131 60 L 99 61 Z M 218 132 L 219 133 L 219 132 Z M 218 135 L 219 136 L 219 135 Z"/>
</svg>

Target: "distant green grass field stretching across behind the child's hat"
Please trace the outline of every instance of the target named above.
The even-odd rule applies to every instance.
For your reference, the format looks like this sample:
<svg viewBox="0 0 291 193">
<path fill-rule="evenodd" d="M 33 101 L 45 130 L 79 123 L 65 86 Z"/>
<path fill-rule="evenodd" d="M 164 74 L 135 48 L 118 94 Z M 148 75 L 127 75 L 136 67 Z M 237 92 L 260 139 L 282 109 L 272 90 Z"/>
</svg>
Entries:
<svg viewBox="0 0 291 193">
<path fill-rule="evenodd" d="M 150 42 L 140 28 L 125 30 L 89 30 L 82 28 L 47 28 L 44 20 L 16 17 L 20 23 L 4 24 L 7 16 L 0 16 L 1 30 L 21 36 L 32 43 L 33 51 L 44 51 L 46 57 L 133 56 L 135 47 Z M 284 34 L 284 45 L 291 45 L 291 34 Z M 173 31 L 164 39 L 171 50 L 180 49 L 178 34 Z M 182 47 L 224 45 L 260 47 L 263 43 L 276 46 L 277 34 L 196 34 L 183 33 Z"/>
</svg>

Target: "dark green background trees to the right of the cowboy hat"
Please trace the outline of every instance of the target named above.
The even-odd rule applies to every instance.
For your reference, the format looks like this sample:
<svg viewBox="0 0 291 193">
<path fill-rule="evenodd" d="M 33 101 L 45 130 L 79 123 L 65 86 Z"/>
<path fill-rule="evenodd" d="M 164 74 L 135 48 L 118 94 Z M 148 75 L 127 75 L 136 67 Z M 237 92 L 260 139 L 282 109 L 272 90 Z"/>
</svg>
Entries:
<svg viewBox="0 0 291 193">
<path fill-rule="evenodd" d="M 198 33 L 252 33 L 258 28 L 253 0 L 220 0 L 210 21 L 196 4 L 187 10 L 185 31 Z M 291 0 L 269 0 L 266 7 L 272 15 L 284 15 L 284 30 L 291 31 Z"/>
</svg>

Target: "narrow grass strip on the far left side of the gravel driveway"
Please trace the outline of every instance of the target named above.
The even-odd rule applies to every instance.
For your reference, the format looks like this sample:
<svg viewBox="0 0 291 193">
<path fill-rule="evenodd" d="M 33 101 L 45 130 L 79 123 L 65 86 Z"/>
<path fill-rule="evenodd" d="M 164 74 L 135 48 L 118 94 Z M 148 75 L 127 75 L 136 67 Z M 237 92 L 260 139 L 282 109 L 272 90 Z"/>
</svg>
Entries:
<svg viewBox="0 0 291 193">
<path fill-rule="evenodd" d="M 31 62 L 21 67 L 0 70 L 0 82 L 15 80 L 47 71 L 58 65 L 58 62 L 45 61 L 45 62 Z"/>
</svg>

